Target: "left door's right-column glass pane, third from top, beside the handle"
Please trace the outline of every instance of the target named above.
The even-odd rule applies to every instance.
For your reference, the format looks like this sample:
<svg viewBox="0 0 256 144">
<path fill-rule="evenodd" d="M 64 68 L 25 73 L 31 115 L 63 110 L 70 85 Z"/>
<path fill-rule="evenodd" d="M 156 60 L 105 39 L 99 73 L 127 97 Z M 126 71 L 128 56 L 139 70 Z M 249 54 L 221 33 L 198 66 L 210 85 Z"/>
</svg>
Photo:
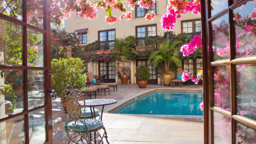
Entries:
<svg viewBox="0 0 256 144">
<path fill-rule="evenodd" d="M 45 104 L 44 71 L 28 70 L 29 109 Z"/>
</svg>

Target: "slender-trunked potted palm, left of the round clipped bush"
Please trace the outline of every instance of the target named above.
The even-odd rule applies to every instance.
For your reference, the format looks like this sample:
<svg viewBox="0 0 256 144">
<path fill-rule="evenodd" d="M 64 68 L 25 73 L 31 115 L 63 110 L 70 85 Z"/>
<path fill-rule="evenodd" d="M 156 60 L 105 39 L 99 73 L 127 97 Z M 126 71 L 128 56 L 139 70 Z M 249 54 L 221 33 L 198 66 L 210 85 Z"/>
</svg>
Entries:
<svg viewBox="0 0 256 144">
<path fill-rule="evenodd" d="M 121 60 L 121 63 L 122 63 L 122 75 L 121 75 L 122 84 L 127 84 L 128 75 L 126 75 L 126 72 L 125 72 L 125 61 L 126 60 L 135 61 L 135 55 L 138 55 L 138 53 L 135 52 L 135 50 L 130 47 L 130 41 L 117 39 L 117 38 L 114 44 L 114 52 L 117 55 L 119 55 L 119 60 Z"/>
</svg>

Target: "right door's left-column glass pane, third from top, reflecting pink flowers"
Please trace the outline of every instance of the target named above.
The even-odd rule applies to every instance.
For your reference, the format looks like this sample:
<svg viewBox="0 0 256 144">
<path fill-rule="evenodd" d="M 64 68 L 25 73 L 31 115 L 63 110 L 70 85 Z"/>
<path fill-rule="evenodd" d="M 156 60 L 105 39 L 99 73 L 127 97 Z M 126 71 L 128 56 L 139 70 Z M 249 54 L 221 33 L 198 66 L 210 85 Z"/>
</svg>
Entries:
<svg viewBox="0 0 256 144">
<path fill-rule="evenodd" d="M 213 75 L 214 104 L 230 111 L 230 66 L 215 66 Z"/>
</svg>

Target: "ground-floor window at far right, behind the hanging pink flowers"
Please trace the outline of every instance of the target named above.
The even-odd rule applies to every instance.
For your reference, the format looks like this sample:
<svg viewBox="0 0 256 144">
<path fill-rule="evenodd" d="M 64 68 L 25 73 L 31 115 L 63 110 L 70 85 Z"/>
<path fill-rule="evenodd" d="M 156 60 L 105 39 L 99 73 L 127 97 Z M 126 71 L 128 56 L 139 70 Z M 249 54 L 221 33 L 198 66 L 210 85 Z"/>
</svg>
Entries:
<svg viewBox="0 0 256 144">
<path fill-rule="evenodd" d="M 184 59 L 183 60 L 183 69 L 190 72 L 190 75 L 196 75 L 202 67 L 202 59 Z"/>
</svg>

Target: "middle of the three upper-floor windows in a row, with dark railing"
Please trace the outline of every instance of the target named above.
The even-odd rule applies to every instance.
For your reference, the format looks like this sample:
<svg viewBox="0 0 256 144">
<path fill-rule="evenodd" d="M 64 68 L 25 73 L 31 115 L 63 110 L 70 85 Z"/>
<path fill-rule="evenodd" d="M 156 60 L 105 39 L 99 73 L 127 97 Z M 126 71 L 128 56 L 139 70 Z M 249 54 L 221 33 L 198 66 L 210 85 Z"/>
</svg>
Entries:
<svg viewBox="0 0 256 144">
<path fill-rule="evenodd" d="M 145 38 L 154 36 L 157 36 L 157 25 L 136 27 L 136 37 L 138 46 L 145 46 Z"/>
</svg>

